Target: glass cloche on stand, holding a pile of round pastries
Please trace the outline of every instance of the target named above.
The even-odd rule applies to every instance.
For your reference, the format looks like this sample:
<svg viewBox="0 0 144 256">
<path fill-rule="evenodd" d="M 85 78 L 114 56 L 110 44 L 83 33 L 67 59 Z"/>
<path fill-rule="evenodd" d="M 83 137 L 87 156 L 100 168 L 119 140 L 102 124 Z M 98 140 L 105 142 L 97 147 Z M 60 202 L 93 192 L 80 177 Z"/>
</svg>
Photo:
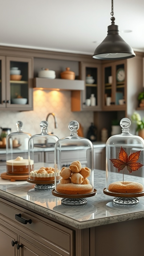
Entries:
<svg viewBox="0 0 144 256">
<path fill-rule="evenodd" d="M 70 136 L 59 139 L 55 144 L 55 189 L 52 190 L 52 194 L 63 197 L 62 204 L 81 205 L 86 204 L 85 197 L 96 194 L 93 145 L 90 140 L 77 135 L 77 121 L 71 121 L 68 127 Z M 65 166 L 61 158 L 63 152 L 69 150 L 75 152 L 75 159 L 69 166 Z M 83 162 L 79 161 L 81 153 Z"/>
</svg>

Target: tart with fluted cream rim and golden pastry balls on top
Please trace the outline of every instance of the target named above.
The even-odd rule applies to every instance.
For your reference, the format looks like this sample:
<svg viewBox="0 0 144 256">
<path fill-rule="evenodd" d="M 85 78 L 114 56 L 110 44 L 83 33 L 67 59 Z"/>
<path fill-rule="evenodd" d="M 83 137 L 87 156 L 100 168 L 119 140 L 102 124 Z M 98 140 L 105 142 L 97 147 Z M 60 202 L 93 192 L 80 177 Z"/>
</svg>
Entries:
<svg viewBox="0 0 144 256">
<path fill-rule="evenodd" d="M 30 179 L 35 181 L 50 181 L 55 179 L 55 169 L 53 167 L 41 167 L 30 172 Z"/>
</svg>

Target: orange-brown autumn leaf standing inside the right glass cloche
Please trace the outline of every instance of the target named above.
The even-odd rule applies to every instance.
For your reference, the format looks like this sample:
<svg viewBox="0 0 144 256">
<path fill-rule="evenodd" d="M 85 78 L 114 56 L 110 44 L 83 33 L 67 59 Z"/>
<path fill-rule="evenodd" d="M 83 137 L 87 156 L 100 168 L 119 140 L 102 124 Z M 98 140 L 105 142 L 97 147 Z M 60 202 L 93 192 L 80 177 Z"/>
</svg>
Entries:
<svg viewBox="0 0 144 256">
<path fill-rule="evenodd" d="M 127 167 L 129 173 L 132 173 L 132 171 L 137 171 L 140 167 L 143 166 L 143 164 L 137 162 L 140 156 L 140 152 L 141 150 L 134 152 L 128 157 L 124 148 L 121 147 L 119 152 L 119 159 L 113 158 L 109 160 L 113 163 L 114 167 L 118 168 L 118 172 Z"/>
</svg>

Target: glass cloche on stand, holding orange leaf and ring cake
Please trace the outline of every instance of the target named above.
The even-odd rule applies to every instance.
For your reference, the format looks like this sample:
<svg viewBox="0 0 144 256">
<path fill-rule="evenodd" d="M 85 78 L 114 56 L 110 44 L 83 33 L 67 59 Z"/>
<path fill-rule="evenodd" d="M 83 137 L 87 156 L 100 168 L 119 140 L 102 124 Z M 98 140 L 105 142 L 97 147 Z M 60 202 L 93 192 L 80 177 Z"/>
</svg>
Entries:
<svg viewBox="0 0 144 256">
<path fill-rule="evenodd" d="M 106 188 L 116 204 L 136 204 L 144 196 L 144 140 L 129 133 L 128 118 L 120 121 L 122 133 L 106 143 Z"/>
</svg>

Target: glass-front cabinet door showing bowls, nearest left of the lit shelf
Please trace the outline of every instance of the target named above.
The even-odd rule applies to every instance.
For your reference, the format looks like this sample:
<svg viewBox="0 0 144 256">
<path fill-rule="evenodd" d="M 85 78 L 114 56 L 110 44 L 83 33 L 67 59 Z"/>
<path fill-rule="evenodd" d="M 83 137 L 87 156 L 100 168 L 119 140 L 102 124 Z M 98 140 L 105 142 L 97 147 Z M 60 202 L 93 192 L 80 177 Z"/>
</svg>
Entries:
<svg viewBox="0 0 144 256">
<path fill-rule="evenodd" d="M 6 57 L 6 108 L 33 109 L 32 59 Z"/>
</svg>

